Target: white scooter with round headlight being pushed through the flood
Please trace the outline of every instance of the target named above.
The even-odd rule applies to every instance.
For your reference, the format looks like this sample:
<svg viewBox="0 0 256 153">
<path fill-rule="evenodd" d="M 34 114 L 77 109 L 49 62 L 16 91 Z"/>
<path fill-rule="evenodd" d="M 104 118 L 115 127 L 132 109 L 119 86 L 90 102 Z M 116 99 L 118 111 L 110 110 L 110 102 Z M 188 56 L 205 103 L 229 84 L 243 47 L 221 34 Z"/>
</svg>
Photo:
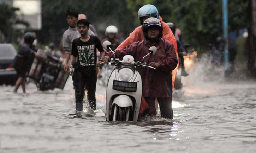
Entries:
<svg viewBox="0 0 256 153">
<path fill-rule="evenodd" d="M 109 41 L 102 43 L 104 49 L 110 50 L 115 55 L 110 45 Z M 112 71 L 107 84 L 107 121 L 138 121 L 142 96 L 142 80 L 141 75 L 136 71 L 136 67 L 141 66 L 142 68 L 155 69 L 146 65 L 144 58 L 154 55 L 156 52 L 157 48 L 152 46 L 142 61 L 134 62 L 134 58 L 131 55 L 125 55 L 123 60 L 111 58 L 111 61 L 108 62 L 108 64 L 117 67 Z"/>
</svg>

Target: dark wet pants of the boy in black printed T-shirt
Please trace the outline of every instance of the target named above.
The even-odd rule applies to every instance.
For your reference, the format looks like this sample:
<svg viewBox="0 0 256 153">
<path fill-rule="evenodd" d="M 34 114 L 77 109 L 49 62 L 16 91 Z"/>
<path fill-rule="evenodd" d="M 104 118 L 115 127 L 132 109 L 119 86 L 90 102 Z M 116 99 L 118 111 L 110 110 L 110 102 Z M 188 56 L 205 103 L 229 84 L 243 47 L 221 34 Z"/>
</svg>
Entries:
<svg viewBox="0 0 256 153">
<path fill-rule="evenodd" d="M 73 85 L 75 87 L 76 110 L 83 110 L 84 86 L 87 89 L 89 106 L 96 110 L 96 82 L 97 72 L 95 67 L 76 68 L 73 74 Z"/>
</svg>

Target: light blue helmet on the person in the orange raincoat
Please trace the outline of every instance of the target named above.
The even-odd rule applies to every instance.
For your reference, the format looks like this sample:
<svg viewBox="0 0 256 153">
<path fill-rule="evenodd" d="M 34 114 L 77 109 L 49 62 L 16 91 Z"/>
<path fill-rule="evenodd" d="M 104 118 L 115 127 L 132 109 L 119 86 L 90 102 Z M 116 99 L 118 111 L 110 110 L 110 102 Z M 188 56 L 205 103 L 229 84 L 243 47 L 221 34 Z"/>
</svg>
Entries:
<svg viewBox="0 0 256 153">
<path fill-rule="evenodd" d="M 141 24 L 143 24 L 141 17 L 155 17 L 158 19 L 159 17 L 158 10 L 154 5 L 151 5 L 151 4 L 144 5 L 141 8 L 139 8 L 139 11 L 138 11 L 138 18 L 141 21 Z"/>
</svg>

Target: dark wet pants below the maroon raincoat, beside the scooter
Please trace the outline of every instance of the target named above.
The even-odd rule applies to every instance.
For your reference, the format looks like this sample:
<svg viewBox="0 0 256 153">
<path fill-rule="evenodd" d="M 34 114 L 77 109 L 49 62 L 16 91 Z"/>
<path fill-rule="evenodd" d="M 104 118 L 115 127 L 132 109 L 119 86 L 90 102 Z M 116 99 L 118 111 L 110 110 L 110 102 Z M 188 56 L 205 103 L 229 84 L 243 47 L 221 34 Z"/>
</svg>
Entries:
<svg viewBox="0 0 256 153">
<path fill-rule="evenodd" d="M 155 108 L 155 97 L 144 97 L 148 103 L 149 109 L 148 114 L 151 116 L 156 115 L 156 108 Z M 173 119 L 173 110 L 172 110 L 172 97 L 168 98 L 157 98 L 161 117 Z"/>
</svg>

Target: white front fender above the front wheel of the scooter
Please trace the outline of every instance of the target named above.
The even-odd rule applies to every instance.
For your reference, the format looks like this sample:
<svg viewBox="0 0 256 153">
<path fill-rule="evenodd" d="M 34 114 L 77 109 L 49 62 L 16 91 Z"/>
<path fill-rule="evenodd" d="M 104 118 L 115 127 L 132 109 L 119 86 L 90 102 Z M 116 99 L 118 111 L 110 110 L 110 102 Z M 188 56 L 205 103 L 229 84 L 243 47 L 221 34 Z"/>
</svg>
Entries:
<svg viewBox="0 0 256 153">
<path fill-rule="evenodd" d="M 132 100 L 127 95 L 119 95 L 119 96 L 115 97 L 115 99 L 113 100 L 112 106 L 113 106 L 113 104 L 116 104 L 119 107 L 130 107 L 131 106 L 133 109 Z"/>
</svg>

